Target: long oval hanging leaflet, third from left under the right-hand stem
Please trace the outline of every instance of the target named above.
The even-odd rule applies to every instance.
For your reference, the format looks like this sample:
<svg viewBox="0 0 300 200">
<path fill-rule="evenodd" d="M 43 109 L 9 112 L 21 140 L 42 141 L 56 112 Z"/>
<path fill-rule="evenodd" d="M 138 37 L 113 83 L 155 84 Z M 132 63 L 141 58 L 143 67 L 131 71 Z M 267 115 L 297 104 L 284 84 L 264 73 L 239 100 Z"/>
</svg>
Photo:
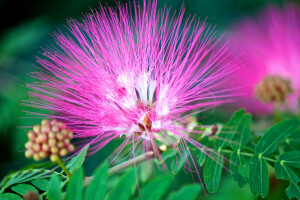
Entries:
<svg viewBox="0 0 300 200">
<path fill-rule="evenodd" d="M 259 155 L 250 160 L 249 184 L 255 196 L 265 198 L 269 193 L 269 172 L 267 162 Z"/>
</svg>

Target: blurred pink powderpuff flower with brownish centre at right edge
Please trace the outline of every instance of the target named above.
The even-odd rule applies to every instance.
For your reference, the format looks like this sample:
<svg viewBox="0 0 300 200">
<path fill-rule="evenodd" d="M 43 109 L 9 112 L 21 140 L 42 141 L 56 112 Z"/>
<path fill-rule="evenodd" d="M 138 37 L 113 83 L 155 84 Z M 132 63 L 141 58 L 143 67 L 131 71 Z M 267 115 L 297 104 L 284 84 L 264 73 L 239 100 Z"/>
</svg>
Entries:
<svg viewBox="0 0 300 200">
<path fill-rule="evenodd" d="M 232 38 L 244 53 L 234 85 L 247 85 L 239 106 L 254 114 L 278 107 L 297 112 L 300 94 L 300 11 L 289 4 L 269 6 L 257 19 L 245 19 Z"/>
</svg>

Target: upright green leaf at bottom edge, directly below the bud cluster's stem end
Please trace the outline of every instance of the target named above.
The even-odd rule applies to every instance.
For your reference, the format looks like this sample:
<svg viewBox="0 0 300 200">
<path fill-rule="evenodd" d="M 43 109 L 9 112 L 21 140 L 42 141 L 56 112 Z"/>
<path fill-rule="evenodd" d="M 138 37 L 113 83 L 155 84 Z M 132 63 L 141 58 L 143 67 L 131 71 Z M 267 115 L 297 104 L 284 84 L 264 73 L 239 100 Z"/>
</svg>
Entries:
<svg viewBox="0 0 300 200">
<path fill-rule="evenodd" d="M 66 200 L 82 200 L 83 191 L 83 169 L 80 167 L 72 175 L 67 185 Z"/>
</svg>

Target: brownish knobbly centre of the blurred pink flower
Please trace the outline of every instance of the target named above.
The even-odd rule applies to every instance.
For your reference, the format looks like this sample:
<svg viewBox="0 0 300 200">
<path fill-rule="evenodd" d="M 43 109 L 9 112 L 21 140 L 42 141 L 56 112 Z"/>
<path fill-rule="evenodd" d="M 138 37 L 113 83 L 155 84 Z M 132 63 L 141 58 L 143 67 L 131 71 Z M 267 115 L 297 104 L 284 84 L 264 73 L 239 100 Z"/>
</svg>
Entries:
<svg viewBox="0 0 300 200">
<path fill-rule="evenodd" d="M 290 80 L 268 75 L 255 88 L 255 96 L 263 103 L 285 103 L 293 92 Z"/>
</svg>

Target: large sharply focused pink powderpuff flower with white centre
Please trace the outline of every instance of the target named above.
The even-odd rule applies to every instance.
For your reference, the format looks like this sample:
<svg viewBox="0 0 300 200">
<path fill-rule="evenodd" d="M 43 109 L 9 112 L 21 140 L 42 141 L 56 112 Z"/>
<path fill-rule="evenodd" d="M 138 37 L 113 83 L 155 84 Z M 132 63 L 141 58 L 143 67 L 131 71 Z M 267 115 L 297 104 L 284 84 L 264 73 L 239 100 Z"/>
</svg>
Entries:
<svg viewBox="0 0 300 200">
<path fill-rule="evenodd" d="M 184 20 L 184 8 L 170 16 L 144 1 L 100 6 L 81 22 L 69 20 L 68 29 L 55 33 L 56 45 L 37 59 L 41 71 L 32 74 L 27 105 L 54 114 L 35 114 L 66 123 L 90 153 L 120 137 L 116 157 L 128 146 L 126 158 L 152 151 L 160 160 L 159 145 L 185 149 L 184 157 L 186 141 L 203 148 L 186 118 L 235 95 L 220 89 L 236 65 L 214 28 Z"/>
</svg>

